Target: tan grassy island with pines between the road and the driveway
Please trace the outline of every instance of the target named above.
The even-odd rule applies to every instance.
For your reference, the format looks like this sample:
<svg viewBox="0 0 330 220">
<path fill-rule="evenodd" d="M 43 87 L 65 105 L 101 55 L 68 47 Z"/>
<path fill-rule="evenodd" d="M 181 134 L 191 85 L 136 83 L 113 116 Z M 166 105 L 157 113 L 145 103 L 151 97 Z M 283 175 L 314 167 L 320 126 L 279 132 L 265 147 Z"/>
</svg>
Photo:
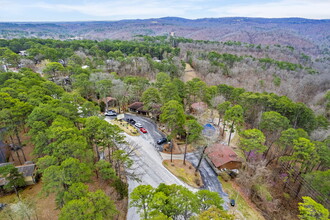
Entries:
<svg viewBox="0 0 330 220">
<path fill-rule="evenodd" d="M 176 177 L 189 186 L 194 188 L 200 188 L 203 186 L 202 177 L 198 172 L 195 172 L 194 166 L 186 160 L 186 165 L 183 164 L 183 160 L 164 160 L 163 165 Z"/>
</svg>

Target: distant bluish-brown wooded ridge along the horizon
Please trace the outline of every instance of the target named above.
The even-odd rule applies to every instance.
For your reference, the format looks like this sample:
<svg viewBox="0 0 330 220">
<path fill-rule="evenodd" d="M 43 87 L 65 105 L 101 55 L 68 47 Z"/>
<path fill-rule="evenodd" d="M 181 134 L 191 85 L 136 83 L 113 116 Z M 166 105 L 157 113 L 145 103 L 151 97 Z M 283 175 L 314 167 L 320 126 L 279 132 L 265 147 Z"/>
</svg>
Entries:
<svg viewBox="0 0 330 220">
<path fill-rule="evenodd" d="M 167 35 L 195 40 L 241 41 L 281 44 L 310 55 L 323 54 L 330 46 L 330 20 L 304 18 L 202 18 L 178 17 L 77 22 L 2 22 L 0 38 L 121 39 L 135 35 Z"/>
</svg>

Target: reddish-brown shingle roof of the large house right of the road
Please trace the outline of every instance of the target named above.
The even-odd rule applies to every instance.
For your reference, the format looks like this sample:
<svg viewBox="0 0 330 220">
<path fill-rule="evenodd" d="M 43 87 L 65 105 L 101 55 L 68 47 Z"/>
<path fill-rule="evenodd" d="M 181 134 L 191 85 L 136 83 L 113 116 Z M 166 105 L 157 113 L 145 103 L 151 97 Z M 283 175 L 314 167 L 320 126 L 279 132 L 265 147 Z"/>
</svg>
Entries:
<svg viewBox="0 0 330 220">
<path fill-rule="evenodd" d="M 215 144 L 206 149 L 206 154 L 216 167 L 220 167 L 229 162 L 241 162 L 235 151 L 223 144 Z"/>
</svg>

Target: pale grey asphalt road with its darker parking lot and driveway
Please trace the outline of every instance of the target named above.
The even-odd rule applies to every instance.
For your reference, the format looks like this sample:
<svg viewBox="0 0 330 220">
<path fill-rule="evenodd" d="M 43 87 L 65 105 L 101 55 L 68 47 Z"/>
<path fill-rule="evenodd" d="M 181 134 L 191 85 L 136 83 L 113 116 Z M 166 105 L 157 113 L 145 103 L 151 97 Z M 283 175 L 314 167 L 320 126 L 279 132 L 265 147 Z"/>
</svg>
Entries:
<svg viewBox="0 0 330 220">
<path fill-rule="evenodd" d="M 112 117 L 106 117 L 106 120 L 110 122 L 111 118 Z M 157 145 L 156 142 L 160 138 L 165 137 L 165 135 L 157 129 L 157 125 L 151 119 L 138 115 L 125 114 L 125 119 L 126 118 L 134 119 L 136 122 L 142 124 L 142 126 L 148 131 L 147 134 L 141 133 L 140 136 L 129 136 L 125 134 L 126 140 L 129 143 L 134 143 L 134 146 L 132 146 L 135 148 L 135 155 L 132 158 L 134 160 L 133 170 L 138 174 L 139 179 L 141 180 L 138 182 L 134 179 L 128 179 L 129 193 L 139 185 L 149 184 L 153 187 L 157 187 L 160 183 L 183 185 L 189 188 L 191 191 L 197 191 L 197 189 L 192 188 L 179 180 L 162 165 L 163 158 L 160 154 L 162 151 L 162 146 Z M 187 159 L 194 166 L 197 166 L 199 157 L 200 153 L 198 152 L 187 154 Z M 202 160 L 200 173 L 203 178 L 203 188 L 213 192 L 218 192 L 225 201 L 224 208 L 228 209 L 228 195 L 223 192 L 217 174 L 213 171 L 205 159 Z M 128 209 L 127 219 L 140 219 L 136 208 Z"/>
</svg>

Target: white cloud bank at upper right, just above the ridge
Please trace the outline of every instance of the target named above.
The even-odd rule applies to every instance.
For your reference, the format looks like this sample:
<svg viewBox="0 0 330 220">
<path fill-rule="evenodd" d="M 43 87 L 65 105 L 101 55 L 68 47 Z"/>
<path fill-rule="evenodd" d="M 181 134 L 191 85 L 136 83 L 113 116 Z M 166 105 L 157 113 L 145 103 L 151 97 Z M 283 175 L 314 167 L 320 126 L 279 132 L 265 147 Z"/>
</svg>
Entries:
<svg viewBox="0 0 330 220">
<path fill-rule="evenodd" d="M 278 2 L 230 5 L 210 9 L 217 17 L 330 18 L 329 0 L 281 0 Z"/>
</svg>

